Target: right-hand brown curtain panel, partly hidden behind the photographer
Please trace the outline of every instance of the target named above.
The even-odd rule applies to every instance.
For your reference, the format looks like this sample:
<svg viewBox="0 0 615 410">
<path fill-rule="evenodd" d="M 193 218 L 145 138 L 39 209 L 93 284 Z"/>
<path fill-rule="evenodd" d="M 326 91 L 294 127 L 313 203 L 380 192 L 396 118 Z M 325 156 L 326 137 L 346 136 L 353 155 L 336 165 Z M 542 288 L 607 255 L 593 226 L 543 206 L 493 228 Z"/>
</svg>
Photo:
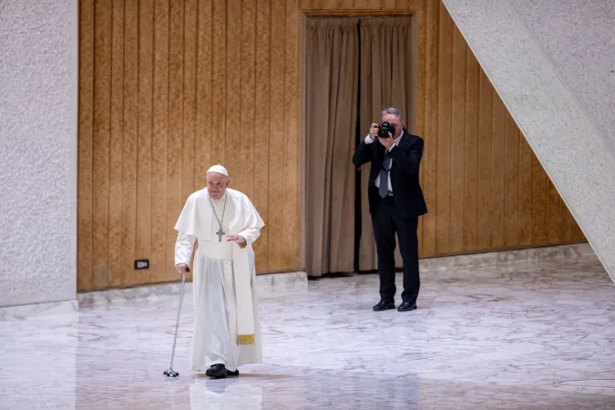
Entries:
<svg viewBox="0 0 615 410">
<path fill-rule="evenodd" d="M 372 122 L 380 123 L 381 111 L 402 111 L 405 128 L 415 132 L 416 32 L 412 17 L 362 18 L 361 33 L 361 132 L 367 135 Z M 364 135 L 362 137 L 364 137 Z M 361 223 L 359 269 L 377 269 L 372 219 L 367 203 L 369 165 L 361 171 Z M 397 267 L 402 266 L 399 248 Z"/>
</svg>

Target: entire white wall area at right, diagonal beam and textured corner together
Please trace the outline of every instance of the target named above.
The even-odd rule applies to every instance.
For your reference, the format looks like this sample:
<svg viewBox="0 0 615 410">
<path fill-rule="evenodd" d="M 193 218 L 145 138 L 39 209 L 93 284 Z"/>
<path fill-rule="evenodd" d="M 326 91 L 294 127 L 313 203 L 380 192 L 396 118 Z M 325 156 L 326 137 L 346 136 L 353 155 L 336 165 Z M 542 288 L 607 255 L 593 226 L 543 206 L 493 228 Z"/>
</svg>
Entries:
<svg viewBox="0 0 615 410">
<path fill-rule="evenodd" d="M 615 281 L 613 2 L 443 2 Z"/>
</svg>

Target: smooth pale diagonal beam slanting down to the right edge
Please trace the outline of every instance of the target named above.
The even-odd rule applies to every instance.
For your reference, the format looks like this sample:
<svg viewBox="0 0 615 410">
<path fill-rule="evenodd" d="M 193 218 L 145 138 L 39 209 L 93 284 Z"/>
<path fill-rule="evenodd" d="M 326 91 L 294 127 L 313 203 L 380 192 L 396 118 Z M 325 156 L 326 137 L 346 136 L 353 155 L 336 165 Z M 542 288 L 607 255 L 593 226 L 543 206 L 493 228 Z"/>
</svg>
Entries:
<svg viewBox="0 0 615 410">
<path fill-rule="evenodd" d="M 443 0 L 615 282 L 615 157 L 507 0 Z"/>
</svg>

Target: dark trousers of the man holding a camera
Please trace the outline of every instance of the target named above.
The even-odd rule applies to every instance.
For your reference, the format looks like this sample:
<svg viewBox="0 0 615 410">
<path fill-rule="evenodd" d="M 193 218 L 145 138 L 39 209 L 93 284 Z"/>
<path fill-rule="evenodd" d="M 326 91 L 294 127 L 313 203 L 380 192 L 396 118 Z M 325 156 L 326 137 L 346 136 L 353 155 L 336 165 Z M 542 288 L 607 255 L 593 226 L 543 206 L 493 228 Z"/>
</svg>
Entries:
<svg viewBox="0 0 615 410">
<path fill-rule="evenodd" d="M 402 301 L 415 303 L 421 287 L 418 274 L 418 218 L 397 216 L 393 197 L 378 197 L 379 204 L 372 215 L 374 238 L 380 273 L 380 298 L 392 302 L 395 286 L 395 232 L 399 237 L 399 252 L 404 262 L 404 292 Z"/>
</svg>

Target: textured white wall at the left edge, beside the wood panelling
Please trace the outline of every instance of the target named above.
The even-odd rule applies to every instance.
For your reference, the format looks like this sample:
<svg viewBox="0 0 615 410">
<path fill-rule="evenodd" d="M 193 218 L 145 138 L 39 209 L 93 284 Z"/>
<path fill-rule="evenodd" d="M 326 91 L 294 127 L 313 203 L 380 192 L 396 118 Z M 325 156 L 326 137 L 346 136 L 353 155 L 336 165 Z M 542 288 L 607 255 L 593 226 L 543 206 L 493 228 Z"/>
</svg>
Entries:
<svg viewBox="0 0 615 410">
<path fill-rule="evenodd" d="M 77 0 L 0 0 L 0 306 L 76 299 Z"/>
</svg>

